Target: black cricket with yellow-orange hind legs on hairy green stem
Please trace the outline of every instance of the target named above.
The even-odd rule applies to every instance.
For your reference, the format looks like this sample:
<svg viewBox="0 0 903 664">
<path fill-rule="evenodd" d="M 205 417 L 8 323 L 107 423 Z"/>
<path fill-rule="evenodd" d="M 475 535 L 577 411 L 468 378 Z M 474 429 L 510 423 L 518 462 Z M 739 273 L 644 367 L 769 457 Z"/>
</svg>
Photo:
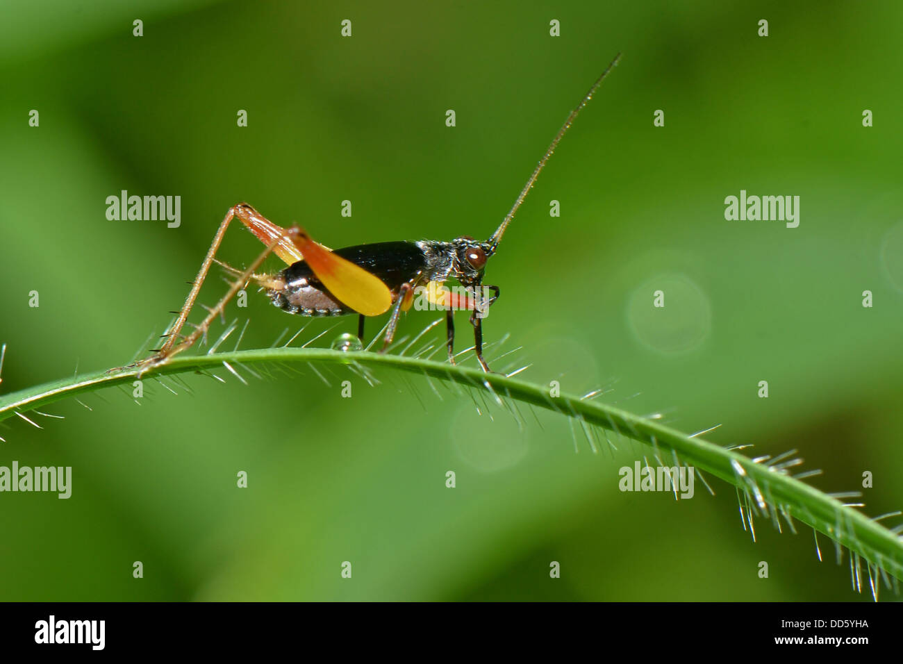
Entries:
<svg viewBox="0 0 903 664">
<path fill-rule="evenodd" d="M 392 343 L 396 326 L 402 312 L 410 309 L 415 289 L 422 288 L 430 302 L 446 310 L 446 345 L 449 361 L 454 363 L 454 312 L 470 311 L 473 326 L 473 350 L 480 367 L 489 372 L 489 365 L 483 358 L 482 312 L 498 300 L 498 285 L 484 285 L 483 276 L 489 257 L 498 248 L 498 243 L 514 219 L 517 209 L 533 188 L 536 178 L 542 172 L 555 147 L 574 119 L 587 105 L 602 81 L 618 64 L 620 53 L 595 80 L 580 103 L 573 108 L 563 126 L 554 136 L 543 158 L 536 164 L 517 200 L 505 215 L 498 229 L 480 242 L 470 236 L 461 236 L 451 242 L 438 240 L 377 242 L 332 250 L 314 241 L 300 226 L 290 228 L 277 226 L 267 220 L 247 203 L 238 203 L 229 208 L 225 218 L 210 244 L 207 256 L 200 265 L 198 275 L 191 283 L 191 291 L 174 322 L 161 338 L 165 338 L 161 348 L 153 349 L 151 357 L 136 365 L 143 371 L 165 363 L 178 353 L 187 350 L 201 336 L 206 335 L 210 324 L 221 315 L 228 302 L 250 282 L 255 282 L 265 291 L 270 301 L 286 313 L 301 316 L 342 316 L 358 315 L 358 339 L 364 341 L 364 326 L 368 317 L 379 316 L 391 310 L 386 325 L 381 351 Z M 226 235 L 232 220 L 240 220 L 256 238 L 266 246 L 264 251 L 247 268 L 237 270 L 216 258 L 217 250 Z M 275 274 L 256 274 L 267 257 L 275 254 L 287 267 Z M 210 267 L 216 262 L 235 276 L 226 295 L 212 308 L 193 331 L 182 335 L 182 328 L 194 306 L 201 285 Z M 464 287 L 466 295 L 454 294 L 442 285 L 455 279 Z M 489 295 L 489 292 L 492 295 Z M 173 312 L 176 313 L 176 312 Z"/>
</svg>

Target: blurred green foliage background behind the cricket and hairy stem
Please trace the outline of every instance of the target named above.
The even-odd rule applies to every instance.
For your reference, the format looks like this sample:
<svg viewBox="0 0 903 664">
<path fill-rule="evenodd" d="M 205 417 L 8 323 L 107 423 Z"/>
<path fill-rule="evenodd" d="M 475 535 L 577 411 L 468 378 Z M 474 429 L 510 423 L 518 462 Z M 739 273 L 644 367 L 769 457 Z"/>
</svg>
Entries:
<svg viewBox="0 0 903 664">
<path fill-rule="evenodd" d="M 489 360 L 522 346 L 502 365 L 532 364 L 526 379 L 610 388 L 688 433 L 721 423 L 707 437 L 752 454 L 798 448 L 827 491 L 873 472 L 867 513 L 903 507 L 903 5 L 54 0 L 0 19 L 4 392 L 129 360 L 237 201 L 332 247 L 488 237 L 624 51 L 489 263 L 502 298 L 487 340 L 511 335 Z M 181 228 L 107 220 L 124 189 L 181 195 Z M 724 220 L 740 189 L 799 195 L 799 228 Z M 259 248 L 235 229 L 223 257 Z M 215 275 L 202 301 L 224 289 Z M 306 322 L 254 294 L 230 313 L 250 319 L 243 348 Z M 435 315 L 409 313 L 401 333 Z M 353 377 L 333 370 L 328 388 L 298 369 L 249 387 L 190 376 L 191 395 L 148 382 L 140 405 L 110 389 L 90 412 L 49 407 L 66 419 L 42 430 L 7 420 L 0 464 L 74 479 L 70 500 L 0 496 L 0 599 L 870 599 L 826 538 L 818 563 L 808 529 L 759 521 L 753 544 L 722 482 L 676 502 L 620 492 L 638 445 L 612 458 L 578 439 L 575 454 L 559 416 L 526 414 L 521 432 L 422 379 L 354 379 L 348 399 Z"/>
</svg>

